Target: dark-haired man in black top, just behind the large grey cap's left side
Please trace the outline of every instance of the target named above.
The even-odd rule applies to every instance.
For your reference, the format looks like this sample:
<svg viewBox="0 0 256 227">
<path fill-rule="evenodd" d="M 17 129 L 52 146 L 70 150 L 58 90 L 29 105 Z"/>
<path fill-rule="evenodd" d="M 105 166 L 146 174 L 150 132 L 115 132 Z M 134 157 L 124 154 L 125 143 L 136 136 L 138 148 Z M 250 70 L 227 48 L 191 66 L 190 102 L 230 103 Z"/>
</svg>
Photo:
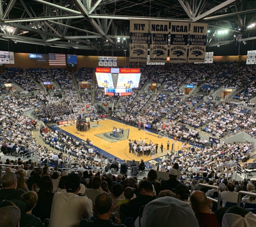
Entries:
<svg viewBox="0 0 256 227">
<path fill-rule="evenodd" d="M 136 197 L 120 206 L 120 212 L 123 215 L 123 219 L 131 217 L 135 221 L 139 216 L 140 208 L 155 199 L 153 196 L 153 185 L 149 181 L 140 181 L 139 190 L 140 197 Z"/>
</svg>

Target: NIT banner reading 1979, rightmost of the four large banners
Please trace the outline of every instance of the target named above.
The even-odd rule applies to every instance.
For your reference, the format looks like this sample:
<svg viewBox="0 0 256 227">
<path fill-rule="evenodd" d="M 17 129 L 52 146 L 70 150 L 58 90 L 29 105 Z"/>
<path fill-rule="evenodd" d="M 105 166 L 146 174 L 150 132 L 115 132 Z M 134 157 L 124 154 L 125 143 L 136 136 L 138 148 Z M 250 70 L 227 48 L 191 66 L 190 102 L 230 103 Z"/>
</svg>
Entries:
<svg viewBox="0 0 256 227">
<path fill-rule="evenodd" d="M 207 25 L 190 24 L 189 60 L 188 62 L 204 62 L 207 42 Z"/>
</svg>

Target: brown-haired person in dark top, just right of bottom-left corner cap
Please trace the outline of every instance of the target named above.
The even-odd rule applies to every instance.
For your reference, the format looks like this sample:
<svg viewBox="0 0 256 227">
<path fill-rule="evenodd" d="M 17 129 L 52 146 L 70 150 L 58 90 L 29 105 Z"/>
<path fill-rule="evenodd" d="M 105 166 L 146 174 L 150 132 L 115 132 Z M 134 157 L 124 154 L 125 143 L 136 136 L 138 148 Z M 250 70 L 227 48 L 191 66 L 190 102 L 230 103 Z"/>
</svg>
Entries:
<svg viewBox="0 0 256 227">
<path fill-rule="evenodd" d="M 20 200 L 26 203 L 25 213 L 20 217 L 20 227 L 43 227 L 40 218 L 32 215 L 32 210 L 36 206 L 38 196 L 36 191 L 29 191 L 20 197 Z"/>
</svg>

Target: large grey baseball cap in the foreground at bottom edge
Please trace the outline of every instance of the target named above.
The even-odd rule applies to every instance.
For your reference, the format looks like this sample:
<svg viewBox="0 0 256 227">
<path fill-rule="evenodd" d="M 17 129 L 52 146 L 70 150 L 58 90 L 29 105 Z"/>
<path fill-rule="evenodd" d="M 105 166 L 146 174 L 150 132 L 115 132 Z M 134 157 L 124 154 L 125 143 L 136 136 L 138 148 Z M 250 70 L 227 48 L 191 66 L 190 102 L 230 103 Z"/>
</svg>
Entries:
<svg viewBox="0 0 256 227">
<path fill-rule="evenodd" d="M 135 227 L 199 227 L 190 205 L 170 196 L 149 202 L 134 224 Z"/>
</svg>

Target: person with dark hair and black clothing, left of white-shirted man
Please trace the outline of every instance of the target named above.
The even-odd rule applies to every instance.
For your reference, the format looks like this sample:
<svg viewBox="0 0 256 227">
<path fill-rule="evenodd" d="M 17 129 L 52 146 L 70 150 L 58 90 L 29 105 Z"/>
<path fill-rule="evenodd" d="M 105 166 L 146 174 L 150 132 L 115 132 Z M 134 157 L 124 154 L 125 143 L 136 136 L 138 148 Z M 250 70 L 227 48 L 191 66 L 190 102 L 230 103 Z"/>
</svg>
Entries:
<svg viewBox="0 0 256 227">
<path fill-rule="evenodd" d="M 53 185 L 50 176 L 42 176 L 39 181 L 40 190 L 37 192 L 38 202 L 32 210 L 32 214 L 39 217 L 43 222 L 45 218 L 50 218 L 52 200 L 53 200 Z"/>
</svg>

